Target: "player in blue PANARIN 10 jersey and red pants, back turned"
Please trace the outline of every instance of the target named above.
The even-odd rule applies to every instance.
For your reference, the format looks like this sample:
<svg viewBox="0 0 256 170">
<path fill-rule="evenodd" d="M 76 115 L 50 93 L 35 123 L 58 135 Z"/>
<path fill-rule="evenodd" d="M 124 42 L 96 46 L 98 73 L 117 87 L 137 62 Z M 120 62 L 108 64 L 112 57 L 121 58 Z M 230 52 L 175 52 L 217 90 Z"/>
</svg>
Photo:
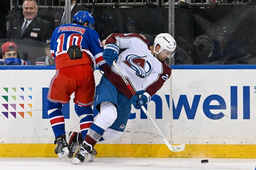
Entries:
<svg viewBox="0 0 256 170">
<path fill-rule="evenodd" d="M 73 157 L 78 147 L 74 145 L 74 141 L 79 136 L 78 133 L 71 132 L 68 145 L 64 116 L 61 113 L 62 104 L 68 103 L 70 95 L 75 92 L 75 111 L 80 118 L 80 129 L 84 138 L 93 123 L 93 71 L 104 61 L 103 47 L 98 33 L 93 30 L 94 18 L 91 13 L 78 11 L 72 21 L 72 24 L 61 25 L 54 30 L 50 45 L 56 63 L 56 74 L 50 83 L 47 109 L 55 135 L 54 144 L 57 144 L 55 153 L 59 158 L 67 155 L 69 158 Z M 96 150 L 92 149 L 89 154 L 96 155 Z"/>
</svg>

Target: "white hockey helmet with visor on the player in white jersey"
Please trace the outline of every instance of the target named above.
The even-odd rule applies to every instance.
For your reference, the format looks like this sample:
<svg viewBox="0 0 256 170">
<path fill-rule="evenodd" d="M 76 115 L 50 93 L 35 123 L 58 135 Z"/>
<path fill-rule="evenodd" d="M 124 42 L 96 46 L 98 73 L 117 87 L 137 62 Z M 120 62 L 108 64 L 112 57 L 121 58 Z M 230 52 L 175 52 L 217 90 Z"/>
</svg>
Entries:
<svg viewBox="0 0 256 170">
<path fill-rule="evenodd" d="M 161 46 L 160 50 L 158 52 L 155 51 L 156 45 L 159 44 Z M 154 41 L 154 53 L 159 54 L 164 49 L 167 51 L 172 52 L 170 58 L 175 54 L 175 48 L 176 48 L 176 41 L 174 38 L 168 34 L 168 33 L 160 33 L 156 36 Z"/>
</svg>

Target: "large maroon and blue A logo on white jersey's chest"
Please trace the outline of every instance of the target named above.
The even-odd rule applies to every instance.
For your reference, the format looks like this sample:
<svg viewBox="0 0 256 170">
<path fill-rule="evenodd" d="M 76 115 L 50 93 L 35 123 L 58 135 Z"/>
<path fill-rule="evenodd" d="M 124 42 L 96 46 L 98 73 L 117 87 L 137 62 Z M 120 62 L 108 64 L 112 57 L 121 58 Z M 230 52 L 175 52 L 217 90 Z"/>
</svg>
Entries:
<svg viewBox="0 0 256 170">
<path fill-rule="evenodd" d="M 126 60 L 122 62 L 125 63 L 129 68 L 135 71 L 136 76 L 140 78 L 145 78 L 147 73 L 151 70 L 151 65 L 147 60 L 147 55 L 138 56 L 138 55 L 127 55 Z"/>
</svg>

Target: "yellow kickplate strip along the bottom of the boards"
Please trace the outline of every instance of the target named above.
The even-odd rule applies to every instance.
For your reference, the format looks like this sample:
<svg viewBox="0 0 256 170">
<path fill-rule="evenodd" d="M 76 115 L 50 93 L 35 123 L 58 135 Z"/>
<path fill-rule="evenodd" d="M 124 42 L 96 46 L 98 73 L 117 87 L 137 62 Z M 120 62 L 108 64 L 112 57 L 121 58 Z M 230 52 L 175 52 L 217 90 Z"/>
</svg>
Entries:
<svg viewBox="0 0 256 170">
<path fill-rule="evenodd" d="M 0 157 L 57 157 L 54 144 L 0 144 Z M 186 144 L 171 152 L 165 144 L 97 144 L 96 157 L 256 158 L 256 145 Z"/>
</svg>

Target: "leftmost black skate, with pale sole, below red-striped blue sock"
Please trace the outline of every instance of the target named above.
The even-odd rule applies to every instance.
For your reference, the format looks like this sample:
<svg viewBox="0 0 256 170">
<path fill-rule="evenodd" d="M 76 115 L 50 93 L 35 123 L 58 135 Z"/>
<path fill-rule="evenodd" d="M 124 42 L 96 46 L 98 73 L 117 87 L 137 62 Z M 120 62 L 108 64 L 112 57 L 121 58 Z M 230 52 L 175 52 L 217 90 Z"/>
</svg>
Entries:
<svg viewBox="0 0 256 170">
<path fill-rule="evenodd" d="M 59 156 L 59 158 L 67 157 L 68 155 L 68 143 L 66 141 L 66 135 L 60 135 L 55 137 L 54 144 L 57 144 L 55 148 L 55 153 Z"/>
</svg>

